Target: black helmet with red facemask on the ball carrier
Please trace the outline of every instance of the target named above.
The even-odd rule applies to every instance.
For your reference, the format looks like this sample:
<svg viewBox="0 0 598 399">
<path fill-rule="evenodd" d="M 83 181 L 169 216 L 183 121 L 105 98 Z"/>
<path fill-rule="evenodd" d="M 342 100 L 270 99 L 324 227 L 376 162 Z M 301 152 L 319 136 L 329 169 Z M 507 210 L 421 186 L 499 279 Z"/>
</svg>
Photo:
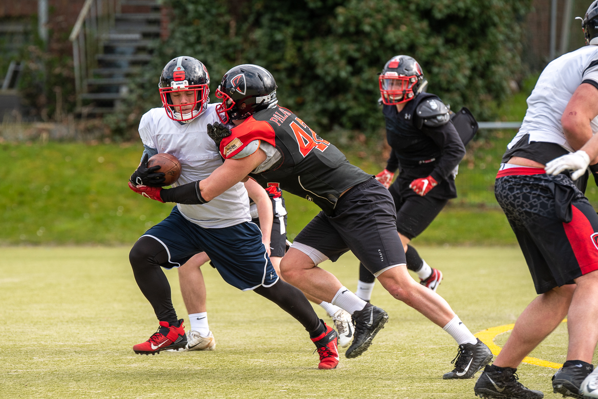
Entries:
<svg viewBox="0 0 598 399">
<path fill-rule="evenodd" d="M 170 60 L 164 66 L 160 75 L 158 90 L 162 105 L 166 109 L 166 115 L 172 120 L 189 123 L 196 118 L 208 106 L 210 75 L 208 69 L 199 60 L 193 57 L 181 56 Z M 174 105 L 170 98 L 170 93 L 174 91 L 187 92 L 193 90 L 194 100 L 188 103 Z M 183 114 L 182 107 L 185 105 L 194 105 L 191 112 L 188 109 L 187 114 Z"/>
</svg>

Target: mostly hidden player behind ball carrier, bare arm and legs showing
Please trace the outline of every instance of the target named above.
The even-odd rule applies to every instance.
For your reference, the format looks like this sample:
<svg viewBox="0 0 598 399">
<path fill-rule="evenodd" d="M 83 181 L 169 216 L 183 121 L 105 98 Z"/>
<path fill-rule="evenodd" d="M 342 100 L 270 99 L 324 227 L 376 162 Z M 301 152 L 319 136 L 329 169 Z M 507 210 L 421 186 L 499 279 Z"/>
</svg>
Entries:
<svg viewBox="0 0 598 399">
<path fill-rule="evenodd" d="M 280 272 L 280 260 L 286 251 L 286 208 L 282 190 L 271 185 L 264 190 L 254 179 L 245 182 L 249 194 L 249 214 L 252 223 L 260 227 L 262 242 L 270 255 L 270 261 L 277 273 Z M 187 307 L 190 330 L 187 331 L 187 351 L 212 351 L 216 340 L 210 331 L 206 308 L 206 288 L 201 266 L 210 258 L 206 252 L 194 255 L 178 268 L 181 294 Z M 213 264 L 213 263 L 211 263 Z M 280 273 L 279 273 L 280 276 Z M 307 296 L 322 306 L 332 318 L 338 333 L 338 345 L 349 346 L 353 338 L 351 316 L 345 310 L 331 303 Z"/>
</svg>

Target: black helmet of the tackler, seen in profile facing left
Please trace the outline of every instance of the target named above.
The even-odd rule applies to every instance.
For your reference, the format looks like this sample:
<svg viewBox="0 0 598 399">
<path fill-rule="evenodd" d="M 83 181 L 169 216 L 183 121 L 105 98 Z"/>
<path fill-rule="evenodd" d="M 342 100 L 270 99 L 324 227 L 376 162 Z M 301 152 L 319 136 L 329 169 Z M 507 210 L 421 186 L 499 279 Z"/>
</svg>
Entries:
<svg viewBox="0 0 598 399">
<path fill-rule="evenodd" d="M 222 99 L 222 103 L 216 105 L 216 112 L 224 124 L 248 118 L 278 103 L 274 77 L 261 66 L 252 64 L 229 69 L 215 95 Z"/>
</svg>

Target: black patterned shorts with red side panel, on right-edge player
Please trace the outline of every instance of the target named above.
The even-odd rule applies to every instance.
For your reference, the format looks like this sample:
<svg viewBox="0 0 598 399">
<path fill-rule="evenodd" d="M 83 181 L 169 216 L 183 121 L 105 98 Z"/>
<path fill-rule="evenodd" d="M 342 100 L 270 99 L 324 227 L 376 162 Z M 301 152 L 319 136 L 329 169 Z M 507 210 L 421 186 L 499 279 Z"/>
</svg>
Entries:
<svg viewBox="0 0 598 399">
<path fill-rule="evenodd" d="M 573 284 L 598 270 L 598 216 L 565 174 L 512 167 L 499 170 L 496 200 L 532 274 L 536 293 Z"/>
</svg>

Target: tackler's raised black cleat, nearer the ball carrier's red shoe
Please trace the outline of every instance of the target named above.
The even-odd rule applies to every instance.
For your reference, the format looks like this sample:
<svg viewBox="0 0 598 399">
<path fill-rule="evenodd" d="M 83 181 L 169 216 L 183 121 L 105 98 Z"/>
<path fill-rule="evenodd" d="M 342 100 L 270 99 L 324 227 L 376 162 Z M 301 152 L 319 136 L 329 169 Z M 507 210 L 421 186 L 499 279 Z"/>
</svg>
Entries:
<svg viewBox="0 0 598 399">
<path fill-rule="evenodd" d="M 351 319 L 355 326 L 353 343 L 344 352 L 345 357 L 349 359 L 358 357 L 370 348 L 372 340 L 388 321 L 388 313 L 368 303 L 364 309 L 353 312 Z"/>
</svg>

